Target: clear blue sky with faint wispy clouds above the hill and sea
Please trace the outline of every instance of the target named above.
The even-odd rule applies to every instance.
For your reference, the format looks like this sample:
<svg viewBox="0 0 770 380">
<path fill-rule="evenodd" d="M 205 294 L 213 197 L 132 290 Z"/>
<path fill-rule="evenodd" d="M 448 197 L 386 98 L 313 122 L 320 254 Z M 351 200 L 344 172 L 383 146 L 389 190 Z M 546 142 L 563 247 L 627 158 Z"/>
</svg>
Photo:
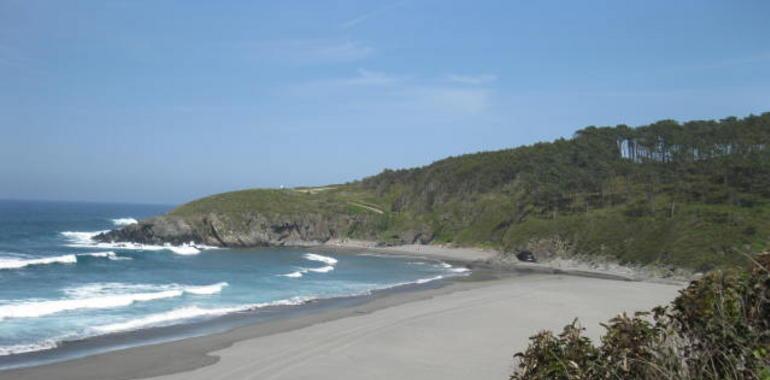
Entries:
<svg viewBox="0 0 770 380">
<path fill-rule="evenodd" d="M 767 1 L 0 0 L 0 198 L 179 203 L 770 111 Z"/>
</svg>

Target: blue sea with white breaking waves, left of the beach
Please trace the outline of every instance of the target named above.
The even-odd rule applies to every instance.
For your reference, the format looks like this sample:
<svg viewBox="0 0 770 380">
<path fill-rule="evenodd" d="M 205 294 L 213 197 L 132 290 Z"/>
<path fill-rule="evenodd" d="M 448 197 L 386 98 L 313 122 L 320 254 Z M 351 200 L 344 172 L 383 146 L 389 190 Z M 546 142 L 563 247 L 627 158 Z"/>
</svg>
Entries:
<svg viewBox="0 0 770 380">
<path fill-rule="evenodd" d="M 366 251 L 96 244 L 169 207 L 0 200 L 0 363 L 64 342 L 462 274 Z"/>
</svg>

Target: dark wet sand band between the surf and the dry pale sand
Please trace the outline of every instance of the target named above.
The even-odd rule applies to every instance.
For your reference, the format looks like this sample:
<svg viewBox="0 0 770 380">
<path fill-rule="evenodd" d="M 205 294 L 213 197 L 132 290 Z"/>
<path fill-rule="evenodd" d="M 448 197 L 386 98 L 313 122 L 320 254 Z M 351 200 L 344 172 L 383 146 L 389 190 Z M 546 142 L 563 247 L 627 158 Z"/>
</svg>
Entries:
<svg viewBox="0 0 770 380">
<path fill-rule="evenodd" d="M 324 322 L 369 314 L 409 302 L 481 287 L 487 281 L 499 281 L 500 278 L 497 276 L 498 274 L 485 271 L 474 272 L 470 276 L 450 277 L 424 284 L 376 290 L 371 295 L 317 300 L 300 305 L 295 310 L 291 310 L 291 307 L 279 307 L 288 311 L 286 314 L 279 315 L 282 317 L 279 319 L 255 320 L 252 323 L 205 335 L 135 345 L 40 365 L 0 370 L 0 378 L 4 380 L 43 378 L 130 380 L 190 371 L 216 363 L 218 358 L 211 356 L 211 352 L 230 347 L 242 340 L 294 331 Z M 305 306 L 309 306 L 311 310 Z M 147 330 L 130 334 L 146 334 Z M 75 343 L 92 339 L 87 338 Z M 179 350 L 180 346 L 184 349 Z M 155 360 L 158 355 L 164 357 L 162 362 Z M 104 362 L 111 365 L 103 365 Z M 115 367 L 116 364 L 117 367 Z"/>
</svg>

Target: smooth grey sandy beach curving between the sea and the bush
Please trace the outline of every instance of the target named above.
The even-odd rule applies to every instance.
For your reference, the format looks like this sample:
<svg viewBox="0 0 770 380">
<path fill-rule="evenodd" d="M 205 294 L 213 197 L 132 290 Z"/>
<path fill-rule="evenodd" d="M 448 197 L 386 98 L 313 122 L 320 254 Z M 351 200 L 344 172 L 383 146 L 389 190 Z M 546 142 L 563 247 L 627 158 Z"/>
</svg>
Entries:
<svg viewBox="0 0 770 380">
<path fill-rule="evenodd" d="M 429 252 L 465 262 L 487 255 L 472 251 Z M 0 372 L 0 378 L 505 379 L 512 355 L 538 330 L 560 330 L 577 317 L 598 339 L 600 322 L 668 303 L 679 288 L 482 269 L 440 288 L 392 292 L 225 333 Z"/>
</svg>

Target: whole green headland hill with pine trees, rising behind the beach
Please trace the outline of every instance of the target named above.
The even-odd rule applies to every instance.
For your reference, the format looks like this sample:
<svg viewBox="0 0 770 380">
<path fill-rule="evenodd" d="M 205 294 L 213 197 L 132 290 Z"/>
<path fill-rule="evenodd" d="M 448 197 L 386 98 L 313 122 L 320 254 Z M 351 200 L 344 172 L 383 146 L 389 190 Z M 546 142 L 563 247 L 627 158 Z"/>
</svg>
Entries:
<svg viewBox="0 0 770 380">
<path fill-rule="evenodd" d="M 588 127 L 571 139 L 385 170 L 344 185 L 220 194 L 105 238 L 173 242 L 184 235 L 237 246 L 362 238 L 708 269 L 770 241 L 768 144 L 770 113 Z M 159 228 L 171 222 L 189 228 Z M 137 232 L 153 228 L 157 233 Z"/>
</svg>

